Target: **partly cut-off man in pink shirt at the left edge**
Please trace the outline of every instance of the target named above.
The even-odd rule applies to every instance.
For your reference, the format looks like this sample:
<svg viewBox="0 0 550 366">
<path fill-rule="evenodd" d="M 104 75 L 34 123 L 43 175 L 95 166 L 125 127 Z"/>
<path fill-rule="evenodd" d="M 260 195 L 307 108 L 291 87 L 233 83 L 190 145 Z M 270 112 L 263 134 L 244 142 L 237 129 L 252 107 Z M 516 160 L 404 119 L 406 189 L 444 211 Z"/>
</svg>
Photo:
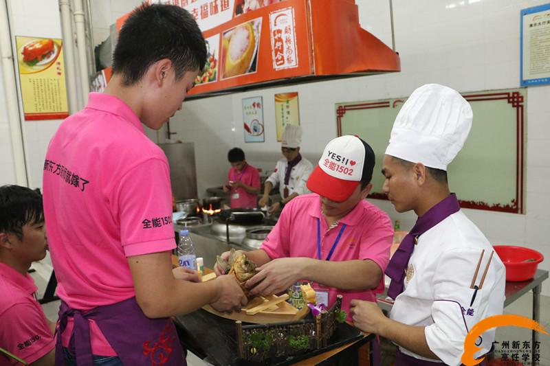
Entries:
<svg viewBox="0 0 550 366">
<path fill-rule="evenodd" d="M 42 197 L 19 185 L 0 187 L 0 365 L 54 365 L 55 323 L 36 299 L 32 262 L 46 256 Z"/>
</svg>

